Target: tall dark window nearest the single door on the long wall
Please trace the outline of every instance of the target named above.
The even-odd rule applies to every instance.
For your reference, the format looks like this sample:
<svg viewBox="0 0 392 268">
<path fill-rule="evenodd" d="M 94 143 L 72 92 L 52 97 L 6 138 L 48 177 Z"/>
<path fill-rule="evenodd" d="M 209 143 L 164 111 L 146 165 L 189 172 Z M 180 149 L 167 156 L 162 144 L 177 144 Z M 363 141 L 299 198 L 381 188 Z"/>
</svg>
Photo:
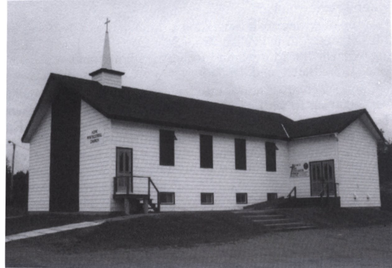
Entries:
<svg viewBox="0 0 392 268">
<path fill-rule="evenodd" d="M 174 166 L 174 131 L 159 131 L 159 164 Z"/>
</svg>

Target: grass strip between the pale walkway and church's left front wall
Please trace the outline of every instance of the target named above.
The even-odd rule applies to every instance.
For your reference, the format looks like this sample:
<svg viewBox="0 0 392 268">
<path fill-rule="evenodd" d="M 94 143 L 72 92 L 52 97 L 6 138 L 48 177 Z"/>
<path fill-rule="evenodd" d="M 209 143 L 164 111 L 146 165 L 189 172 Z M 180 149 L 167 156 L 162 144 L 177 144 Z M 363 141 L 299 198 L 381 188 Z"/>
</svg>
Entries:
<svg viewBox="0 0 392 268">
<path fill-rule="evenodd" d="M 118 216 L 118 215 L 116 215 Z M 66 225 L 70 223 L 89 222 L 109 218 L 108 215 L 54 214 L 43 213 L 5 219 L 5 235 L 17 234 L 36 229 Z"/>
</svg>

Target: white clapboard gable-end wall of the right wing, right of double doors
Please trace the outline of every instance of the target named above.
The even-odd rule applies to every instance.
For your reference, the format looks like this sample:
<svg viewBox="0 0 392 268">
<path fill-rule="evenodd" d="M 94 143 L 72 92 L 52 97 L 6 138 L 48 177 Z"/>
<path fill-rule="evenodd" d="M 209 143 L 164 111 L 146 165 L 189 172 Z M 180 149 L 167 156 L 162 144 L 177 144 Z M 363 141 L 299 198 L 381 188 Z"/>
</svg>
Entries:
<svg viewBox="0 0 392 268">
<path fill-rule="evenodd" d="M 377 143 L 360 119 L 339 134 L 338 150 L 341 206 L 379 207 Z"/>
</svg>

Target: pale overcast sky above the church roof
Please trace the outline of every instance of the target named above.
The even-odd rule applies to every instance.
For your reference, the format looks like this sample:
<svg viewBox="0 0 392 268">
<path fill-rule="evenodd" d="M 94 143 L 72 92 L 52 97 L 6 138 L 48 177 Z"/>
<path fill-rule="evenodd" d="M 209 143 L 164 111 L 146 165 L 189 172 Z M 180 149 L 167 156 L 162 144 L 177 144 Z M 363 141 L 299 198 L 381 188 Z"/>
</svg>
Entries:
<svg viewBox="0 0 392 268">
<path fill-rule="evenodd" d="M 392 138 L 388 0 L 17 1 L 7 11 L 7 139 L 20 139 L 49 73 L 91 79 L 107 17 L 123 85 L 281 113 L 366 108 Z M 11 159 L 11 146 L 7 157 Z"/>
</svg>

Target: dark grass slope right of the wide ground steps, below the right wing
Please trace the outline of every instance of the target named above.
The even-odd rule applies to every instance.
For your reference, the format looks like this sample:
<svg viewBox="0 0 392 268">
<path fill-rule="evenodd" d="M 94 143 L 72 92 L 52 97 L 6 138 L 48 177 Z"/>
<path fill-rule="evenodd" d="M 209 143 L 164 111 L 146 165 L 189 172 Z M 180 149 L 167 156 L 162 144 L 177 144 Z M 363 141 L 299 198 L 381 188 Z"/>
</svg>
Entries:
<svg viewBox="0 0 392 268">
<path fill-rule="evenodd" d="M 392 223 L 392 212 L 374 208 L 307 207 L 282 209 L 280 213 L 320 228 L 365 227 Z"/>
</svg>

